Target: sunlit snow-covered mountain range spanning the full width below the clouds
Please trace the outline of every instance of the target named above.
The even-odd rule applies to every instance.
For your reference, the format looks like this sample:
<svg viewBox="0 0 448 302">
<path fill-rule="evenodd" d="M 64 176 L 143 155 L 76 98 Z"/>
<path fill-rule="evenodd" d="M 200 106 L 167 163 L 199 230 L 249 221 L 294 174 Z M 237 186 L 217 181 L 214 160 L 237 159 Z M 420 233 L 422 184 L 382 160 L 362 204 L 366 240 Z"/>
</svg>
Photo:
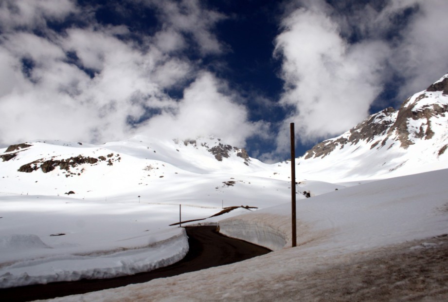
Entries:
<svg viewBox="0 0 448 302">
<path fill-rule="evenodd" d="M 314 146 L 296 161 L 297 178 L 335 183 L 448 168 L 447 109 L 448 75 L 399 110 L 387 108 Z M 138 135 L 103 145 L 33 141 L 0 150 L 0 158 L 0 191 L 19 194 L 142 195 L 164 186 L 184 188 L 188 179 L 192 195 L 213 196 L 232 179 L 250 190 L 258 184 L 253 178 L 288 181 L 290 176 L 289 161 L 264 164 L 215 137 L 161 141 Z M 204 182 L 210 184 L 205 192 Z M 171 191 L 179 193 L 175 197 L 163 189 L 165 197 L 185 199 L 185 192 Z"/>
</svg>

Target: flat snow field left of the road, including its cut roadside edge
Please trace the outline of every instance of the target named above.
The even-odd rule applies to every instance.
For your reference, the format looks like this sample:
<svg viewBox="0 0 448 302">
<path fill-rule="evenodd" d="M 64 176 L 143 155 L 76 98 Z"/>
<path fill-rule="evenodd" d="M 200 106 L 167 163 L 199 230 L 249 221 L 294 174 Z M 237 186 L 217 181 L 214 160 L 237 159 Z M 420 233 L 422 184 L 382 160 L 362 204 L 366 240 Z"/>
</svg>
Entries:
<svg viewBox="0 0 448 302">
<path fill-rule="evenodd" d="M 168 227 L 179 206 L 19 195 L 1 196 L 0 212 L 1 288 L 134 274 L 188 251 L 184 229 Z"/>
</svg>

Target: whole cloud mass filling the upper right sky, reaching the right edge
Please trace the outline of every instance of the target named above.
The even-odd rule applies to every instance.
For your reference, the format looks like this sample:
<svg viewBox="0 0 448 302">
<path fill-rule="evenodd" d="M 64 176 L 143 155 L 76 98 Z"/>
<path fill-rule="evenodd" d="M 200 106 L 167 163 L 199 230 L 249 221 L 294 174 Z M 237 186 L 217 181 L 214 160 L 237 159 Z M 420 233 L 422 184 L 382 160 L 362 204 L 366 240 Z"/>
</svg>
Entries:
<svg viewBox="0 0 448 302">
<path fill-rule="evenodd" d="M 275 39 L 290 110 L 277 139 L 287 150 L 289 123 L 302 143 L 339 135 L 362 121 L 385 84 L 402 80 L 397 102 L 448 72 L 443 0 L 289 3 Z"/>
</svg>

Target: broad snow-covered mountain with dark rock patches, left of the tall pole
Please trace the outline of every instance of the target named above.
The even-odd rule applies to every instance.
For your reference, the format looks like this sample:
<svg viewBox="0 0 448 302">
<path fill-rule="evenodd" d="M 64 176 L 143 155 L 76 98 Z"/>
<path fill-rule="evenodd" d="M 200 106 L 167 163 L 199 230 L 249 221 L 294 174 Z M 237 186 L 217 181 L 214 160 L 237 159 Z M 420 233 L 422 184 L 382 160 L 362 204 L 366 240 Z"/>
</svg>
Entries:
<svg viewBox="0 0 448 302">
<path fill-rule="evenodd" d="M 103 145 L 34 141 L 1 151 L 0 191 L 21 194 L 107 196 L 168 183 L 176 188 L 185 177 L 194 186 L 204 174 L 242 174 L 266 166 L 218 138 L 160 141 L 136 136 Z M 226 176 L 211 189 L 229 180 Z"/>
</svg>

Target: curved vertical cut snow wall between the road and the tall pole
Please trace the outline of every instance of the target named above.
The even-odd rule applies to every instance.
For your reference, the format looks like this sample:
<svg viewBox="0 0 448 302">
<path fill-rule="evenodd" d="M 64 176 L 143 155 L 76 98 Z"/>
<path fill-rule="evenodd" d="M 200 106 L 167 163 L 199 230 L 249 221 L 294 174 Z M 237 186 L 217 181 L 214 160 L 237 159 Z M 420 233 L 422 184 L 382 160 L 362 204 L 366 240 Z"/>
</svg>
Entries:
<svg viewBox="0 0 448 302">
<path fill-rule="evenodd" d="M 251 213 L 221 220 L 219 232 L 273 251 L 291 244 L 290 218 L 283 215 Z"/>
</svg>

